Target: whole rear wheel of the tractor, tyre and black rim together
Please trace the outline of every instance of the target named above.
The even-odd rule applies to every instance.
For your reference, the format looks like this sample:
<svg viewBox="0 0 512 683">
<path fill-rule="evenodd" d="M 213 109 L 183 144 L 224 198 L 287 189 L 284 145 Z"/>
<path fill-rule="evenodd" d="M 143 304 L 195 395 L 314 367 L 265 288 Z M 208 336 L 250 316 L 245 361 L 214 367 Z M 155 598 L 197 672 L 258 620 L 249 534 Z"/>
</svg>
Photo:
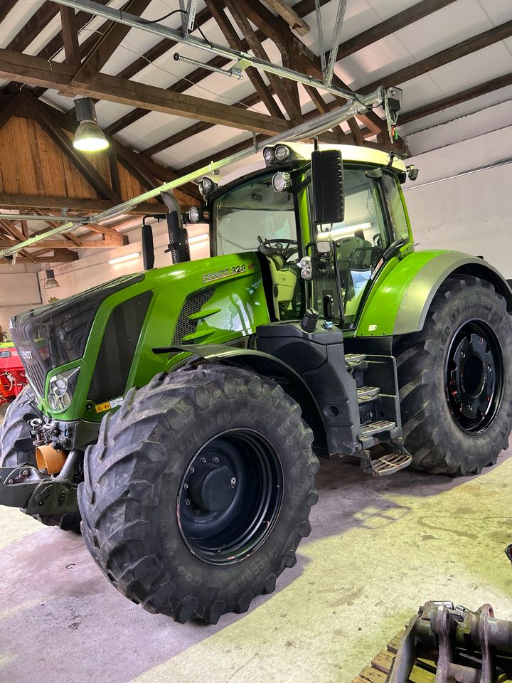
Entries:
<svg viewBox="0 0 512 683">
<path fill-rule="evenodd" d="M 508 448 L 512 318 L 485 280 L 450 277 L 422 332 L 398 342 L 405 448 L 417 469 L 479 474 Z"/>
</svg>

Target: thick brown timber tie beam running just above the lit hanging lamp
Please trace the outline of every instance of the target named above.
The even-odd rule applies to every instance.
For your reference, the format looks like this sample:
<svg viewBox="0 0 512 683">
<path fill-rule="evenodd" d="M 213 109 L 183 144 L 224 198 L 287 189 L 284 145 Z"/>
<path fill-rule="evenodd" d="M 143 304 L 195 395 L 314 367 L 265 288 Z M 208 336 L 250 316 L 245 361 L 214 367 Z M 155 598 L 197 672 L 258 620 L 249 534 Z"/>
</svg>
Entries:
<svg viewBox="0 0 512 683">
<path fill-rule="evenodd" d="M 43 85 L 45 88 L 58 88 L 61 92 L 70 92 L 77 88 L 70 87 L 73 74 L 66 65 L 48 63 L 48 60 L 4 49 L 0 49 L 0 76 L 22 80 L 31 85 Z M 286 121 L 276 117 L 162 90 L 154 85 L 122 80 L 105 73 L 97 74 L 90 85 L 80 87 L 80 94 L 254 132 L 276 134 L 284 132 L 288 127 Z"/>
</svg>

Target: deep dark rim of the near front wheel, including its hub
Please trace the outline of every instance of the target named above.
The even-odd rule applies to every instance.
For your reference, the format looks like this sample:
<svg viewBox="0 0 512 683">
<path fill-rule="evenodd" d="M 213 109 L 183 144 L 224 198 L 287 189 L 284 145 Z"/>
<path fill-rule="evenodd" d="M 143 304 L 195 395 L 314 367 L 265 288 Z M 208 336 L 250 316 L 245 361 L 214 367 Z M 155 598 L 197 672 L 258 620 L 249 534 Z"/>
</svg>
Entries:
<svg viewBox="0 0 512 683">
<path fill-rule="evenodd" d="M 188 549 L 212 564 L 249 556 L 275 524 L 282 478 L 277 452 L 261 434 L 229 430 L 211 439 L 188 463 L 178 491 Z"/>
</svg>

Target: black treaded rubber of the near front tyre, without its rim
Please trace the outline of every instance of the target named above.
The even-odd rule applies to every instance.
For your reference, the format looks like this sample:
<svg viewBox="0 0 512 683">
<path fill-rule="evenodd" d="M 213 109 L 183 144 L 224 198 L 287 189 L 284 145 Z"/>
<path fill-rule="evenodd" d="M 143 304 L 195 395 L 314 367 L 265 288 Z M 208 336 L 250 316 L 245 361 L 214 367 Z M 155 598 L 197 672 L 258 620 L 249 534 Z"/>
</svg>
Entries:
<svg viewBox="0 0 512 683">
<path fill-rule="evenodd" d="M 196 452 L 225 430 L 270 441 L 283 471 L 282 507 L 262 544 L 236 563 L 201 561 L 183 541 L 176 501 Z M 79 487 L 82 533 L 105 576 L 146 610 L 216 623 L 270 593 L 296 562 L 316 502 L 312 433 L 277 384 L 242 369 L 203 366 L 156 376 L 102 422 L 85 453 Z"/>
</svg>

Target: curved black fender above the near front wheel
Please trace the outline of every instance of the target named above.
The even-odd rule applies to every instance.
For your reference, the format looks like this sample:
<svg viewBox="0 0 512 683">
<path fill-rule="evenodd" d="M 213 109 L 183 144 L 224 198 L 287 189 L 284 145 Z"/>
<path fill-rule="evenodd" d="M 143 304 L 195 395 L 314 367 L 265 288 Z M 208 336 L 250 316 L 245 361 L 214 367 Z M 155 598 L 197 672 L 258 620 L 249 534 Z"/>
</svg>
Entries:
<svg viewBox="0 0 512 683">
<path fill-rule="evenodd" d="M 160 349 L 154 349 L 159 351 Z M 168 349 L 166 349 L 168 350 Z M 304 422 L 314 433 L 314 448 L 317 455 L 324 455 L 326 430 L 311 390 L 302 377 L 283 361 L 252 349 L 240 349 L 222 344 L 186 344 L 174 346 L 173 350 L 185 351 L 209 362 L 234 366 L 267 377 L 282 388 L 290 398 L 299 404 Z M 325 454 L 326 455 L 326 454 Z"/>
</svg>

